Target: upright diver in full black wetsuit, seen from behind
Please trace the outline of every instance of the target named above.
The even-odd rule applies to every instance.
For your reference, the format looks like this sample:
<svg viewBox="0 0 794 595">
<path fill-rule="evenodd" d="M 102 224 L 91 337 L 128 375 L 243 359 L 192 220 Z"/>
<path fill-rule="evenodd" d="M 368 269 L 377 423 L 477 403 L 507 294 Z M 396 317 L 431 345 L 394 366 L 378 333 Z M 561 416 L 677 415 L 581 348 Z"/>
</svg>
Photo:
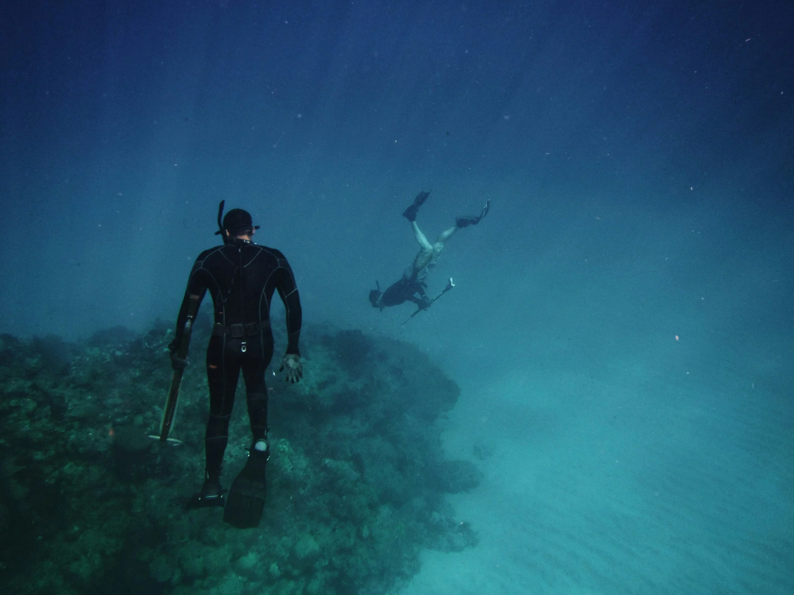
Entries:
<svg viewBox="0 0 794 595">
<path fill-rule="evenodd" d="M 287 310 L 287 352 L 281 361 L 286 380 L 298 382 L 303 364 L 298 350 L 301 305 L 295 278 L 284 255 L 275 248 L 252 242 L 258 225 L 243 209 L 223 214 L 218 208 L 215 235 L 223 245 L 203 251 L 195 261 L 179 317 L 176 334 L 168 346 L 174 370 L 182 370 L 186 358 L 179 357 L 186 321 L 195 316 L 206 291 L 214 304 L 215 324 L 206 351 L 206 375 L 210 388 L 210 418 L 206 424 L 204 446 L 206 466 L 204 485 L 191 499 L 190 507 L 225 506 L 223 520 L 236 527 L 259 525 L 264 507 L 265 464 L 268 463 L 268 390 L 264 372 L 273 355 L 270 304 L 277 291 Z M 187 324 L 190 328 L 190 324 Z M 187 345 L 182 353 L 187 353 Z M 221 465 L 229 440 L 237 379 L 243 373 L 249 421 L 253 434 L 245 467 L 232 483 L 229 493 L 221 487 Z"/>
</svg>

